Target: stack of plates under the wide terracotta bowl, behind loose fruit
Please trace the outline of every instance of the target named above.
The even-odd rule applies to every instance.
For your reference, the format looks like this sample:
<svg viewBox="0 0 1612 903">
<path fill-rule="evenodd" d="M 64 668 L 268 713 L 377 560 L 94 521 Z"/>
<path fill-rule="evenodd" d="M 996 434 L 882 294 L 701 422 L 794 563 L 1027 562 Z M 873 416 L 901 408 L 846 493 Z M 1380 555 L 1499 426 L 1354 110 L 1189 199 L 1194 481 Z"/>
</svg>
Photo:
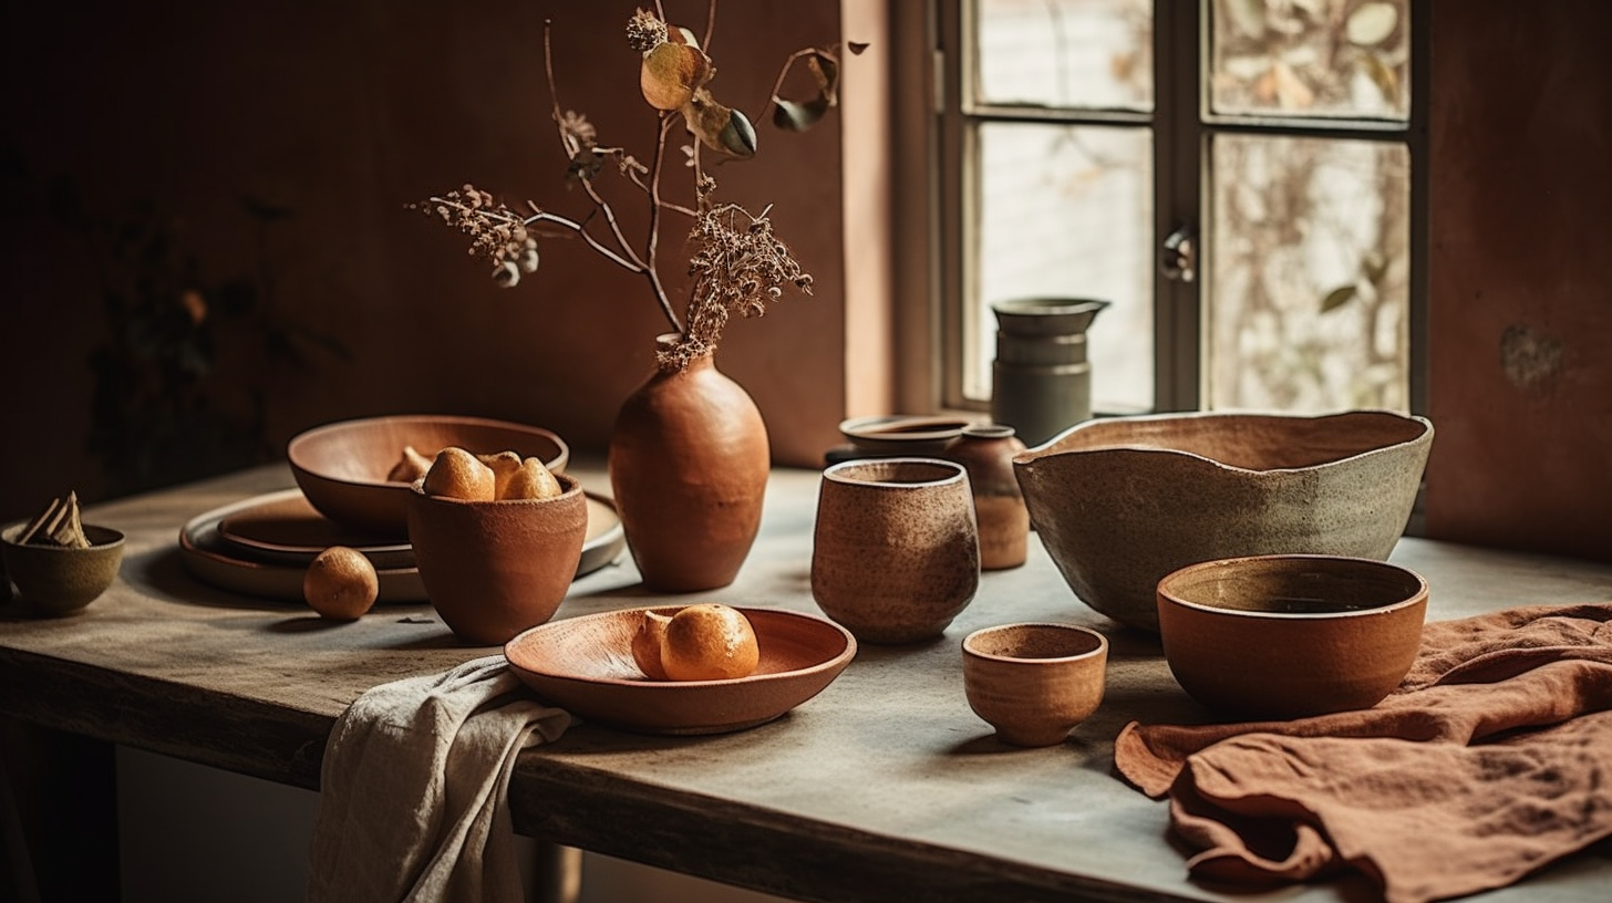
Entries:
<svg viewBox="0 0 1612 903">
<path fill-rule="evenodd" d="M 297 600 L 308 564 L 332 545 L 363 551 L 380 577 L 377 601 L 426 601 L 414 548 L 343 527 L 319 514 L 300 489 L 256 495 L 192 518 L 179 531 L 185 568 L 197 579 L 245 595 Z M 627 545 L 609 500 L 588 495 L 588 535 L 577 576 L 616 561 Z"/>
</svg>

